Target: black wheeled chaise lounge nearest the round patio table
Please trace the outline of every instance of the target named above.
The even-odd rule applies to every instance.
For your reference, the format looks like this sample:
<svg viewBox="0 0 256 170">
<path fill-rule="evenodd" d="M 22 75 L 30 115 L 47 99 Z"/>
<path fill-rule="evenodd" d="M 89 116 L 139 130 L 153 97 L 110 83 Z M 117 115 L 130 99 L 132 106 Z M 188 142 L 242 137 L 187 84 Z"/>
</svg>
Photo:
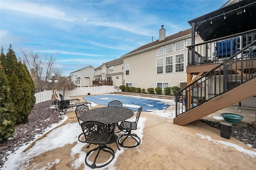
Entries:
<svg viewBox="0 0 256 170">
<path fill-rule="evenodd" d="M 67 109 L 70 108 L 70 107 L 72 107 L 72 109 L 73 109 L 73 107 L 76 107 L 78 105 L 88 105 L 88 104 L 90 104 L 90 107 L 92 106 L 92 103 L 90 103 L 88 101 L 80 103 L 79 99 L 65 100 L 64 97 L 61 94 L 59 94 L 59 95 L 60 95 L 61 101 L 60 101 L 58 107 L 56 107 L 56 111 L 59 112 L 60 115 L 66 114 Z M 76 101 L 76 102 L 73 102 L 73 101 Z"/>
</svg>

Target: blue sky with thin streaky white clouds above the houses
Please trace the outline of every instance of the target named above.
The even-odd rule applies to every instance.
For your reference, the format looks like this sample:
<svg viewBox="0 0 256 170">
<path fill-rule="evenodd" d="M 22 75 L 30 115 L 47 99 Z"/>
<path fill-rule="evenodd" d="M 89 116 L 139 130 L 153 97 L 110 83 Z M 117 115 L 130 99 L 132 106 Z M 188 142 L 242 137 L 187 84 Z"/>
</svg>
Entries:
<svg viewBox="0 0 256 170">
<path fill-rule="evenodd" d="M 30 0 L 0 1 L 0 36 L 5 52 L 12 43 L 52 55 L 64 76 L 102 63 L 166 36 L 191 28 L 189 20 L 220 8 L 227 0 Z"/>
</svg>

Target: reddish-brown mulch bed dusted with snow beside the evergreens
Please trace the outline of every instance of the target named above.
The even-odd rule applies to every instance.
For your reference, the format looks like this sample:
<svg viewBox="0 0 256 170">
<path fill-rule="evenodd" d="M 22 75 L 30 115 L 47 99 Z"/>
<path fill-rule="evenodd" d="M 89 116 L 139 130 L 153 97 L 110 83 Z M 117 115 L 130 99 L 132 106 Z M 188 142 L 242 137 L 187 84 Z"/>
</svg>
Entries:
<svg viewBox="0 0 256 170">
<path fill-rule="evenodd" d="M 2 168 L 6 157 L 17 150 L 20 146 L 28 144 L 36 138 L 37 134 L 43 134 L 46 128 L 52 124 L 59 123 L 64 116 L 60 115 L 52 107 L 52 101 L 45 101 L 34 105 L 29 121 L 16 126 L 14 135 L 6 142 L 0 144 L 0 168 Z"/>
</svg>

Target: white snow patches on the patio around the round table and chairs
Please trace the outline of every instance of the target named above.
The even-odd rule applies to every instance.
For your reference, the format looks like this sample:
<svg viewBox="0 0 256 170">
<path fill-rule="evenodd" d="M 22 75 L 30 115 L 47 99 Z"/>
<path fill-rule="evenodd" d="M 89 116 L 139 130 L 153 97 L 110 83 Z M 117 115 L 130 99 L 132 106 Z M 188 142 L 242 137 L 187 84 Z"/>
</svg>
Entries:
<svg viewBox="0 0 256 170">
<path fill-rule="evenodd" d="M 130 118 L 130 121 L 135 121 L 135 117 Z M 145 125 L 146 118 L 141 117 L 140 121 L 138 122 L 138 129 L 136 130 L 136 134 L 140 137 L 141 143 L 143 142 L 143 128 Z M 52 130 L 46 137 L 42 138 L 35 142 L 35 144 L 26 150 L 26 152 L 22 152 L 28 145 L 24 145 L 20 147 L 19 151 L 16 151 L 10 156 L 8 156 L 8 160 L 4 164 L 3 170 L 11 170 L 11 169 L 25 169 L 28 165 L 28 160 L 33 159 L 35 156 L 39 156 L 42 153 L 48 152 L 50 150 L 54 150 L 59 147 L 63 147 L 66 144 L 73 144 L 77 142 L 77 144 L 71 149 L 71 157 L 74 160 L 73 164 L 71 165 L 72 168 L 77 169 L 84 163 L 84 158 L 86 157 L 86 152 L 82 151 L 82 148 L 86 145 L 85 143 L 78 142 L 78 136 L 82 132 L 81 127 L 78 123 L 67 123 L 62 125 L 58 128 Z M 68 136 L 68 137 L 67 137 Z M 45 147 L 47 146 L 47 147 Z M 137 146 L 138 148 L 139 146 Z M 104 166 L 103 168 L 97 168 L 99 170 L 103 169 L 112 169 L 114 170 L 114 164 L 120 154 L 124 152 L 127 148 L 120 147 L 121 150 L 115 150 L 115 158 L 114 160 Z M 79 154 L 78 158 L 75 158 L 75 154 Z M 48 162 L 46 166 L 40 169 L 50 169 L 54 164 L 58 164 L 60 159 L 56 159 L 54 162 Z M 88 161 L 90 162 L 90 161 Z M 92 163 L 92 162 L 90 162 Z M 84 169 L 90 169 L 88 166 L 84 165 Z M 36 168 L 36 166 L 34 167 Z"/>
</svg>

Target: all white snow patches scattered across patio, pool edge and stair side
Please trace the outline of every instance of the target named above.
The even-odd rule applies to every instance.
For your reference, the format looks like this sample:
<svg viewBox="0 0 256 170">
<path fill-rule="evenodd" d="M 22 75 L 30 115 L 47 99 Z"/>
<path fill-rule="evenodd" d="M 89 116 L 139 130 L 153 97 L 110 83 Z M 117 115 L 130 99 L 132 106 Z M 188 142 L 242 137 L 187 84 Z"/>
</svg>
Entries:
<svg viewBox="0 0 256 170">
<path fill-rule="evenodd" d="M 109 94 L 108 94 L 109 95 Z M 137 97 L 137 96 L 136 96 Z M 138 97 L 138 98 L 148 98 L 152 99 L 150 97 Z M 159 99 L 155 99 L 159 100 Z M 150 113 L 158 115 L 162 118 L 167 119 L 174 119 L 175 117 L 175 105 L 176 103 L 174 100 L 168 100 L 168 99 L 161 99 L 159 101 L 162 101 L 164 103 L 167 103 L 170 105 L 168 109 L 164 110 L 158 110 L 158 111 L 152 111 Z M 97 107 L 98 105 L 96 103 L 92 103 L 91 107 Z M 136 107 L 136 106 L 133 106 Z M 70 109 L 69 111 L 74 111 L 74 109 Z M 213 117 L 216 120 L 221 120 L 222 117 Z M 128 121 L 134 121 L 134 117 L 128 119 Z M 66 119 L 64 119 L 62 122 L 64 122 Z M 138 129 L 136 130 L 136 134 L 140 137 L 141 143 L 143 142 L 143 129 L 145 125 L 146 118 L 140 117 L 138 121 Z M 62 123 L 61 122 L 61 123 Z M 58 125 L 60 125 L 59 123 Z M 46 132 L 52 130 L 53 128 L 57 127 L 58 125 L 54 125 L 51 128 L 49 128 Z M 26 152 L 22 152 L 24 149 L 26 149 L 32 142 L 29 144 L 24 144 L 22 147 L 20 147 L 18 150 L 16 150 L 14 153 L 10 154 L 8 156 L 8 160 L 4 163 L 4 168 L 2 170 L 10 170 L 10 169 L 24 169 L 26 165 L 28 164 L 28 160 L 31 160 L 33 157 L 38 156 L 44 152 L 47 152 L 49 150 L 54 150 L 58 147 L 62 147 L 66 144 L 73 144 L 74 142 L 78 141 L 78 136 L 81 133 L 81 127 L 78 125 L 78 123 L 67 123 L 65 125 L 62 125 L 61 127 L 53 129 L 49 134 L 47 134 L 46 137 L 42 138 L 41 140 L 38 140 L 35 142 L 34 146 L 26 150 Z M 45 133 L 46 133 L 45 132 Z M 213 141 L 214 143 L 221 143 L 226 146 L 231 146 L 236 148 L 240 152 L 244 152 L 245 154 L 248 154 L 249 156 L 252 156 L 253 158 L 256 157 L 256 152 L 251 150 L 246 150 L 241 146 L 238 146 L 236 144 L 232 144 L 230 142 L 225 142 L 222 140 L 213 140 L 210 136 L 206 136 L 203 134 L 197 134 L 198 136 L 201 136 L 201 138 L 206 138 L 209 141 Z M 41 136 L 41 135 L 40 135 Z M 40 137 L 38 135 L 38 137 Z M 68 138 L 66 137 L 68 136 Z M 73 160 L 75 159 L 74 155 L 79 154 L 78 158 L 73 161 L 73 164 L 71 165 L 72 168 L 77 169 L 81 166 L 81 164 L 84 164 L 84 158 L 86 157 L 86 153 L 82 151 L 82 148 L 84 147 L 85 143 L 77 142 L 77 144 L 72 148 L 70 155 L 72 156 Z M 48 146 L 48 147 L 45 147 Z M 138 148 L 138 147 L 137 147 Z M 114 170 L 114 164 L 120 154 L 124 152 L 124 149 L 120 147 L 121 150 L 115 150 L 115 158 L 114 160 L 108 164 L 107 166 L 104 166 L 103 168 L 97 168 L 99 170 L 103 169 L 111 169 Z M 138 149 L 139 151 L 139 149 Z M 48 162 L 46 166 L 40 169 L 50 169 L 54 166 L 54 164 L 58 164 L 60 162 L 60 159 L 56 159 L 54 162 Z M 84 169 L 88 170 L 90 169 L 88 166 L 84 165 Z"/>
</svg>

